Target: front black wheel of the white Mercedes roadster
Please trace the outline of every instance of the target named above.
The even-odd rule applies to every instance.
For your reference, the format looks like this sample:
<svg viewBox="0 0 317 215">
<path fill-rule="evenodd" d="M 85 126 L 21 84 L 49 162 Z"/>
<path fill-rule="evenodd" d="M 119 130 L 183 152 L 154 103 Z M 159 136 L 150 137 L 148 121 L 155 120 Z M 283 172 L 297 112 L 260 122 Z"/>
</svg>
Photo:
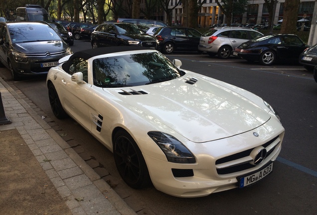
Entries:
<svg viewBox="0 0 317 215">
<path fill-rule="evenodd" d="M 113 152 L 117 169 L 127 185 L 142 189 L 151 184 L 142 152 L 126 130 L 119 130 L 115 134 Z"/>
</svg>

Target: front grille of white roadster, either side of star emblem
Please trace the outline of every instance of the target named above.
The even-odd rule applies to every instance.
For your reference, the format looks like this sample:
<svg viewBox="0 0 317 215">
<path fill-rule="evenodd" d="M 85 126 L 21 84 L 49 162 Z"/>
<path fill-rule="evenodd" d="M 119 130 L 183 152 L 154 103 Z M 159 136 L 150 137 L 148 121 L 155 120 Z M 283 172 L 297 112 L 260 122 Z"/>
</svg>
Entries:
<svg viewBox="0 0 317 215">
<path fill-rule="evenodd" d="M 278 145 L 278 143 L 280 141 L 276 141 L 279 138 L 279 136 L 273 138 L 272 140 L 266 142 L 265 144 L 263 144 L 262 146 L 264 148 L 267 149 L 267 154 L 266 157 L 268 157 L 276 148 L 276 146 Z M 272 143 L 274 143 L 276 141 L 276 143 L 274 144 L 274 146 L 270 146 Z M 231 173 L 235 173 L 235 172 L 240 172 L 243 170 L 248 170 L 251 169 L 253 167 L 255 167 L 255 165 L 251 164 L 250 161 L 247 161 L 247 158 L 249 157 L 250 153 L 252 152 L 254 148 L 233 154 L 233 155 L 229 155 L 227 157 L 224 158 L 220 158 L 218 160 L 216 160 L 216 165 L 220 165 L 220 164 L 224 164 L 224 163 L 228 163 L 227 167 L 224 168 L 217 168 L 217 173 L 219 175 L 226 175 L 226 174 L 231 174 Z M 237 160 L 244 160 L 243 162 L 239 163 L 237 162 Z M 230 165 L 230 163 L 234 163 L 234 165 Z"/>
</svg>

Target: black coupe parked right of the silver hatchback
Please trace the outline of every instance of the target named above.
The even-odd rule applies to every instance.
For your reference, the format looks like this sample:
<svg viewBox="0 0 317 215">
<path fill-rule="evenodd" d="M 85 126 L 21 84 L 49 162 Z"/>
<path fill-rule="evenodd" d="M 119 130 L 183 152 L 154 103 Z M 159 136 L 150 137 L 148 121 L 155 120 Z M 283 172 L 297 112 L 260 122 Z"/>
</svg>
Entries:
<svg viewBox="0 0 317 215">
<path fill-rule="evenodd" d="M 242 43 L 232 54 L 269 66 L 278 60 L 298 61 L 300 54 L 308 47 L 310 46 L 295 34 L 272 34 Z"/>
</svg>

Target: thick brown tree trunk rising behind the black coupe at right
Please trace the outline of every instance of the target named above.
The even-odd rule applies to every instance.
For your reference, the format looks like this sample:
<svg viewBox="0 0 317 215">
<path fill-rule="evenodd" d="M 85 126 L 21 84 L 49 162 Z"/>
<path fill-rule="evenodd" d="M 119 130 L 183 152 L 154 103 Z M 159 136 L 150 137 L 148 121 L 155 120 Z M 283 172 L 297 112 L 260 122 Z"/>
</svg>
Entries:
<svg viewBox="0 0 317 215">
<path fill-rule="evenodd" d="M 280 33 L 297 33 L 297 17 L 300 0 L 285 0 L 283 22 Z"/>
</svg>

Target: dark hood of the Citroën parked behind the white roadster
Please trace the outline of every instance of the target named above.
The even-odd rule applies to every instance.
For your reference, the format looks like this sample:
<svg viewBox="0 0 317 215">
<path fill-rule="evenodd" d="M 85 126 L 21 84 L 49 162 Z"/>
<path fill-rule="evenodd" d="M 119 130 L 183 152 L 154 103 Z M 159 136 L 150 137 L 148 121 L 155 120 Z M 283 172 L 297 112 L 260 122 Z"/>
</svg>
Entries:
<svg viewBox="0 0 317 215">
<path fill-rule="evenodd" d="M 59 40 L 13 43 L 12 46 L 17 51 L 25 54 L 45 54 L 46 52 L 54 53 L 65 51 L 66 48 L 68 48 L 68 45 L 65 42 Z"/>
</svg>

